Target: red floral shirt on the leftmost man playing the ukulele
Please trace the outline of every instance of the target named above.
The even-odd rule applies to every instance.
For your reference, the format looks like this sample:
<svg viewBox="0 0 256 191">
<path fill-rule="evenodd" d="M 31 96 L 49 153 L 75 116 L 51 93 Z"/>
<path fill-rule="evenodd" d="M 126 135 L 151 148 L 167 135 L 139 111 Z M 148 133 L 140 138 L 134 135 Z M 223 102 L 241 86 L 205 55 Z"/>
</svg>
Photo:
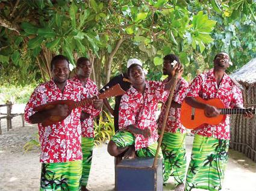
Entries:
<svg viewBox="0 0 256 191">
<path fill-rule="evenodd" d="M 81 88 L 75 82 L 67 80 L 63 92 L 53 80 L 42 83 L 34 90 L 25 107 L 25 120 L 30 123 L 33 108 L 55 100 L 80 101 Z M 51 126 L 39 127 L 39 140 L 42 153 L 40 162 L 60 163 L 82 159 L 81 151 L 81 108 L 72 109 L 71 114 L 63 121 Z"/>
</svg>

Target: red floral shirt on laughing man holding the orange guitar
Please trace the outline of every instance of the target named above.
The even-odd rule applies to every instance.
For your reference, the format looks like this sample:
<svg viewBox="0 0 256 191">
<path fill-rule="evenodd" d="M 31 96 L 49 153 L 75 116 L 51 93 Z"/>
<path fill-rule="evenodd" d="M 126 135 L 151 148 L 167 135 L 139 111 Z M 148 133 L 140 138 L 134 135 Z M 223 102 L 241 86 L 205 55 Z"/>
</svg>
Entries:
<svg viewBox="0 0 256 191">
<path fill-rule="evenodd" d="M 199 74 L 193 80 L 189 86 L 187 96 L 199 96 L 205 100 L 218 98 L 222 100 L 226 108 L 243 105 L 242 92 L 226 73 L 220 82 L 219 88 L 217 87 L 213 69 L 207 73 Z M 229 115 L 226 116 L 226 120 L 222 124 L 217 126 L 202 124 L 197 130 L 193 130 L 192 133 L 216 139 L 229 139 Z"/>
</svg>

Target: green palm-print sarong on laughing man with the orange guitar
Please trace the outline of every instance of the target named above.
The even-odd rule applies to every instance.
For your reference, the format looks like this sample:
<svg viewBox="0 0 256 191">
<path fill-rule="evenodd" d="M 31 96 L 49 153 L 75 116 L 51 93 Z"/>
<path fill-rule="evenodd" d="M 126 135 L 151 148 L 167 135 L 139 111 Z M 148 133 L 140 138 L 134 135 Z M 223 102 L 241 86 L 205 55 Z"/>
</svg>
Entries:
<svg viewBox="0 0 256 191">
<path fill-rule="evenodd" d="M 187 191 L 193 188 L 210 191 L 222 189 L 228 146 L 228 140 L 195 135 L 186 178 Z"/>
</svg>

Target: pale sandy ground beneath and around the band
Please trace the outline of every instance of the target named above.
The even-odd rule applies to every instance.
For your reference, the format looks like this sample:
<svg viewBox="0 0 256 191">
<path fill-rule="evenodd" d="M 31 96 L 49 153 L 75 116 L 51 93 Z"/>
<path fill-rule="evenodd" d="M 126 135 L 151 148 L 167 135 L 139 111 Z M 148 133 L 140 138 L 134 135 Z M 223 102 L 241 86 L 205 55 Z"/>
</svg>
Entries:
<svg viewBox="0 0 256 191">
<path fill-rule="evenodd" d="M 7 132 L 1 120 L 0 135 L 0 190 L 39 190 L 39 149 L 25 153 L 23 145 L 37 133 L 37 127 L 21 127 L 20 117 L 13 120 L 13 129 Z M 193 137 L 187 136 L 187 159 L 190 159 Z M 107 153 L 107 145 L 95 147 L 88 189 L 114 190 L 114 159 Z M 228 166 L 222 190 L 256 191 L 256 164 L 243 154 L 229 150 Z M 164 190 L 173 190 L 173 180 Z M 198 189 L 199 190 L 199 189 Z"/>
</svg>

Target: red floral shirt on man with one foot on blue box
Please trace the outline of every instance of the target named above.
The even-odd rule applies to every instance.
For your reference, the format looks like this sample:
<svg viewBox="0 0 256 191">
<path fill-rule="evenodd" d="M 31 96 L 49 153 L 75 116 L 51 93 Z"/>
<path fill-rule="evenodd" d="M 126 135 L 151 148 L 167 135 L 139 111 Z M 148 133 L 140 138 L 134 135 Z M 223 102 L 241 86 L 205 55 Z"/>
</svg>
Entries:
<svg viewBox="0 0 256 191">
<path fill-rule="evenodd" d="M 169 93 L 164 90 L 164 87 L 165 84 L 163 82 L 146 80 L 144 94 L 131 86 L 122 96 L 119 106 L 119 129 L 123 130 L 133 124 L 139 129 L 151 129 L 152 131 L 150 138 L 144 138 L 140 134 L 135 136 L 136 150 L 148 147 L 158 139 L 156 124 L 157 103 L 165 102 Z"/>
</svg>

